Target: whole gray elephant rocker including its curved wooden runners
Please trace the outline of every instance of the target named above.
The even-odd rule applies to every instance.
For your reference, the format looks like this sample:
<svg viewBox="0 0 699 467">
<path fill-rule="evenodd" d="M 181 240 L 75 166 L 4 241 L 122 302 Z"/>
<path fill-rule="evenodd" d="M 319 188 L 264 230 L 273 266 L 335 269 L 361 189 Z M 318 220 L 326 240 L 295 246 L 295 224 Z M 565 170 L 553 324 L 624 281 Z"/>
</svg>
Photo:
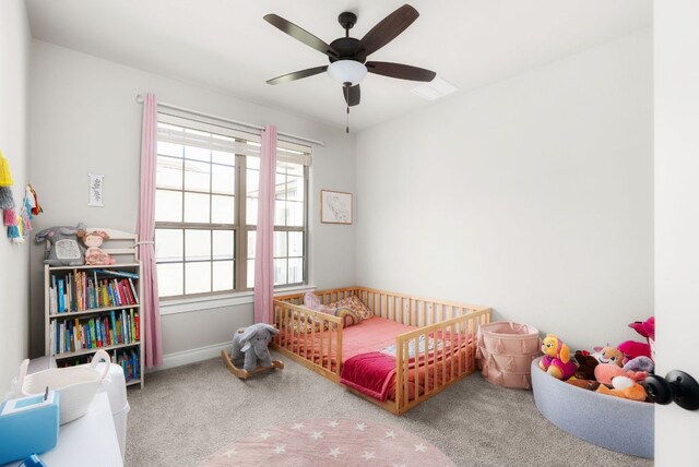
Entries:
<svg viewBox="0 0 699 467">
<path fill-rule="evenodd" d="M 276 327 L 265 323 L 240 327 L 233 335 L 230 356 L 226 350 L 221 350 L 221 357 L 228 370 L 242 380 L 260 371 L 284 368 L 281 361 L 272 360 L 268 349 L 272 338 L 279 333 Z"/>
</svg>

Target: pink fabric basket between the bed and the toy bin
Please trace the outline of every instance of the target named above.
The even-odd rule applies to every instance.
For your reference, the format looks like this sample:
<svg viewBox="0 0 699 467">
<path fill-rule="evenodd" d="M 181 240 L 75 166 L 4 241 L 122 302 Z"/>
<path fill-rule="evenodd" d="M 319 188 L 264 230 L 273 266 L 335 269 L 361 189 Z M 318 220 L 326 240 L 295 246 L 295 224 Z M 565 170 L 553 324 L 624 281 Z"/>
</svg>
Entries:
<svg viewBox="0 0 699 467">
<path fill-rule="evenodd" d="M 529 390 L 530 366 L 540 355 L 538 330 L 529 324 L 497 321 L 478 331 L 476 357 L 487 381 L 513 390 Z"/>
</svg>

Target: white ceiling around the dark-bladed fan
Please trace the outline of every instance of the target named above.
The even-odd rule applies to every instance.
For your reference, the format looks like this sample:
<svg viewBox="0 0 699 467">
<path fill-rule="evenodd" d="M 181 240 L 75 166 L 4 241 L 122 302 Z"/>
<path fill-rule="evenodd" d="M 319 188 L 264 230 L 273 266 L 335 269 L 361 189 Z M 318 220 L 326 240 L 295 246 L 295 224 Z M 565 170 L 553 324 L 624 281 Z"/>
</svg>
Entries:
<svg viewBox="0 0 699 467">
<path fill-rule="evenodd" d="M 401 7 L 395 0 L 26 0 L 32 35 L 115 62 L 345 124 L 339 84 L 319 74 L 265 80 L 327 64 L 325 56 L 262 20 L 266 13 L 330 43 L 336 19 L 358 16 L 360 38 Z M 464 93 L 576 51 L 649 27 L 652 0 L 413 0 L 420 16 L 369 59 L 426 68 Z M 428 106 L 419 83 L 369 74 L 354 131 Z M 445 97 L 449 98 L 449 97 Z M 177 103 L 173 103 L 177 104 Z"/>
</svg>

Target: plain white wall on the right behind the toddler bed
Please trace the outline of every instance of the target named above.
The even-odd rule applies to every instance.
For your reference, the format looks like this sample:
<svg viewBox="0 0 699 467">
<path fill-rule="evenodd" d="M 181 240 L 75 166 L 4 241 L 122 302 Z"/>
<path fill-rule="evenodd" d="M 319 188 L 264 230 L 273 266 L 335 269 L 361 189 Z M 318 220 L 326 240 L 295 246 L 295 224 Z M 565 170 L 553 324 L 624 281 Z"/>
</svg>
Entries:
<svg viewBox="0 0 699 467">
<path fill-rule="evenodd" d="M 464 58 L 467 59 L 467 58 Z M 357 282 L 574 348 L 653 313 L 650 31 L 357 136 Z"/>
</svg>

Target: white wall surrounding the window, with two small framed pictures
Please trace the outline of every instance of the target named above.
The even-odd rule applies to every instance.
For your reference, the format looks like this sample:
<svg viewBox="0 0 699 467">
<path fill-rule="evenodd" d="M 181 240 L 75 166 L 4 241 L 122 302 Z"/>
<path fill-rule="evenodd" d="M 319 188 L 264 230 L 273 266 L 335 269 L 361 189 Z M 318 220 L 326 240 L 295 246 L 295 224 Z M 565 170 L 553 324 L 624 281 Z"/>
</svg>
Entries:
<svg viewBox="0 0 699 467">
<path fill-rule="evenodd" d="M 354 192 L 354 135 L 303 117 L 146 73 L 47 43 L 32 43 L 32 169 L 52 225 L 104 226 L 133 231 L 137 223 L 141 105 L 137 94 L 202 112 L 327 142 L 313 147 L 310 189 L 312 279 L 319 287 L 354 284 L 354 226 L 318 219 L 321 188 Z M 105 207 L 87 206 L 87 173 L 105 175 Z M 32 352 L 43 354 L 42 249 L 32 250 Z M 252 307 L 163 316 L 166 355 L 227 342 L 252 322 Z"/>
</svg>

